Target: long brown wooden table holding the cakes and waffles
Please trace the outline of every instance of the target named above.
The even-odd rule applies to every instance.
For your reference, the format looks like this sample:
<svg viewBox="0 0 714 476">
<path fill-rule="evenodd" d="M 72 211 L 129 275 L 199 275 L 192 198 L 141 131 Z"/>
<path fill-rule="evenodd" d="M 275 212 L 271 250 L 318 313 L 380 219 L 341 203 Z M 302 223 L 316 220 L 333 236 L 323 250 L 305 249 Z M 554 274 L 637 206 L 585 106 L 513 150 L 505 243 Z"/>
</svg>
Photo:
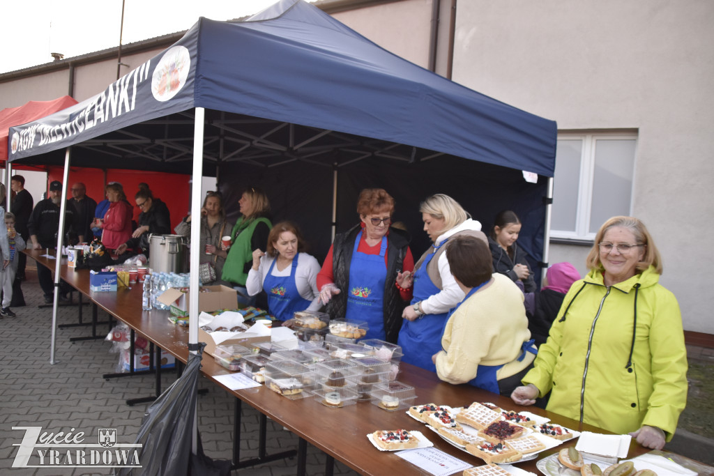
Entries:
<svg viewBox="0 0 714 476">
<path fill-rule="evenodd" d="M 47 265 L 54 270 L 54 260 L 41 258 L 44 250 L 28 250 L 26 253 L 37 260 L 40 265 Z M 61 268 L 61 278 L 114 318 L 135 329 L 139 335 L 158 345 L 159 348 L 169 351 L 181 362 L 187 362 L 188 330 L 170 323 L 167 311 L 142 310 L 141 285 L 134 285 L 131 289 L 119 289 L 116 293 L 92 292 L 89 287 L 89 270 L 74 270 L 66 265 Z M 230 373 L 216 364 L 211 355 L 207 354 L 203 356 L 201 372 L 209 378 Z M 438 405 L 458 407 L 470 405 L 471 402 L 493 402 L 503 408 L 516 411 L 528 410 L 543 415 L 553 422 L 573 430 L 608 433 L 598 427 L 581 424 L 540 408 L 519 407 L 510 398 L 501 397 L 471 385 L 443 383 L 435 373 L 406 363 L 401 364 L 398 380 L 416 389 L 418 403 L 434 402 Z M 216 380 L 213 382 L 221 385 Z M 480 458 L 449 445 L 441 440 L 441 437 L 429 431 L 425 425 L 406 415 L 405 412 L 386 412 L 369 402 L 358 402 L 356 405 L 343 408 L 328 408 L 309 397 L 301 400 L 288 400 L 265 386 L 247 390 L 226 388 L 226 391 L 256 408 L 279 425 L 288 428 L 301 439 L 323 450 L 328 456 L 334 457 L 364 475 L 428 474 L 396 455 L 376 450 L 366 437 L 376 430 L 396 430 L 398 428 L 421 431 L 439 450 L 469 462 L 471 465 L 483 465 Z M 575 442 L 565 442 L 564 445 L 575 445 Z M 545 450 L 536 460 L 521 462 L 516 466 L 538 473 L 535 467 L 536 461 L 557 452 L 562 447 Z M 630 445 L 629 457 L 635 457 L 647 451 L 633 440 Z"/>
</svg>

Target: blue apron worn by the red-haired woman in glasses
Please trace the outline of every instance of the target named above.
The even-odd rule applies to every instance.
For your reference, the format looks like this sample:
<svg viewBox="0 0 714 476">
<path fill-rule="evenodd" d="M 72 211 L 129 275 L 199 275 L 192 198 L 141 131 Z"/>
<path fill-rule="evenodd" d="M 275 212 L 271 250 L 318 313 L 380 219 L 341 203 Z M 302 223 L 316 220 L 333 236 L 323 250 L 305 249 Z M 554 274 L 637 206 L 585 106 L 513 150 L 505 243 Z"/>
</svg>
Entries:
<svg viewBox="0 0 714 476">
<path fill-rule="evenodd" d="M 350 261 L 350 280 L 347 292 L 346 320 L 366 322 L 369 326 L 365 339 L 386 338 L 384 332 L 384 282 L 387 266 L 384 255 L 387 252 L 387 237 L 382 237 L 379 255 L 368 255 L 357 250 L 360 231 Z M 344 291 L 343 291 L 344 292 Z"/>
</svg>

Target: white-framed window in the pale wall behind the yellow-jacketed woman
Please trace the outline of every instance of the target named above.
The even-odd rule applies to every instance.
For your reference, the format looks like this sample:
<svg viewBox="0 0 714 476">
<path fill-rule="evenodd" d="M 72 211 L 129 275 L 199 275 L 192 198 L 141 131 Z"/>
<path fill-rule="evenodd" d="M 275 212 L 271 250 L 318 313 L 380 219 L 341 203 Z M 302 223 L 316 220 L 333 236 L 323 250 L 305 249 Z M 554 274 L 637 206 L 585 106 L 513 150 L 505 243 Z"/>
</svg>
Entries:
<svg viewBox="0 0 714 476">
<path fill-rule="evenodd" d="M 630 215 L 636 133 L 558 133 L 552 238 L 592 240 L 605 221 Z"/>
</svg>

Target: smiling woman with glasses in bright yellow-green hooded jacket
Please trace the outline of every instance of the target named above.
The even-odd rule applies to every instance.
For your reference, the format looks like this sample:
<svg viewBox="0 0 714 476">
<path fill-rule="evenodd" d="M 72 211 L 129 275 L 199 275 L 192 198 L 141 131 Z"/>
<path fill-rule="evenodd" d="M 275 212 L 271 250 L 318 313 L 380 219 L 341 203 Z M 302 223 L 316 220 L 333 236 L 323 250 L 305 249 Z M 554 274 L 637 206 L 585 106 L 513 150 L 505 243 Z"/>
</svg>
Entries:
<svg viewBox="0 0 714 476">
<path fill-rule="evenodd" d="M 511 398 L 660 450 L 687 401 L 687 352 L 674 295 L 658 283 L 660 255 L 637 218 L 610 218 Z"/>
</svg>

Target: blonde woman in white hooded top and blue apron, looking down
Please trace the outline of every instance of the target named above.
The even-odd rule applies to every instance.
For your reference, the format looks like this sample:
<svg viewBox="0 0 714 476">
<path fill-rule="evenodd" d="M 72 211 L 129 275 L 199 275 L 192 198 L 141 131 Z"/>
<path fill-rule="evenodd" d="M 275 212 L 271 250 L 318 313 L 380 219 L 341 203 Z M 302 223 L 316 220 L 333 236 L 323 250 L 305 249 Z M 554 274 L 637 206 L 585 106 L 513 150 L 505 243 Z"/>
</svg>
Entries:
<svg viewBox="0 0 714 476">
<path fill-rule="evenodd" d="M 397 343 L 404 354 L 403 362 L 436 372 L 431 356 L 441 350 L 449 310 L 463 300 L 463 290 L 453 279 L 443 251 L 450 238 L 470 235 L 486 243 L 486 235 L 481 233 L 481 223 L 468 218 L 468 213 L 450 196 L 431 196 L 421 203 L 419 211 L 433 245 L 416 263 L 413 299 L 403 310 L 404 323 Z M 405 275 L 402 273 L 397 282 L 408 288 L 411 276 Z"/>
</svg>

